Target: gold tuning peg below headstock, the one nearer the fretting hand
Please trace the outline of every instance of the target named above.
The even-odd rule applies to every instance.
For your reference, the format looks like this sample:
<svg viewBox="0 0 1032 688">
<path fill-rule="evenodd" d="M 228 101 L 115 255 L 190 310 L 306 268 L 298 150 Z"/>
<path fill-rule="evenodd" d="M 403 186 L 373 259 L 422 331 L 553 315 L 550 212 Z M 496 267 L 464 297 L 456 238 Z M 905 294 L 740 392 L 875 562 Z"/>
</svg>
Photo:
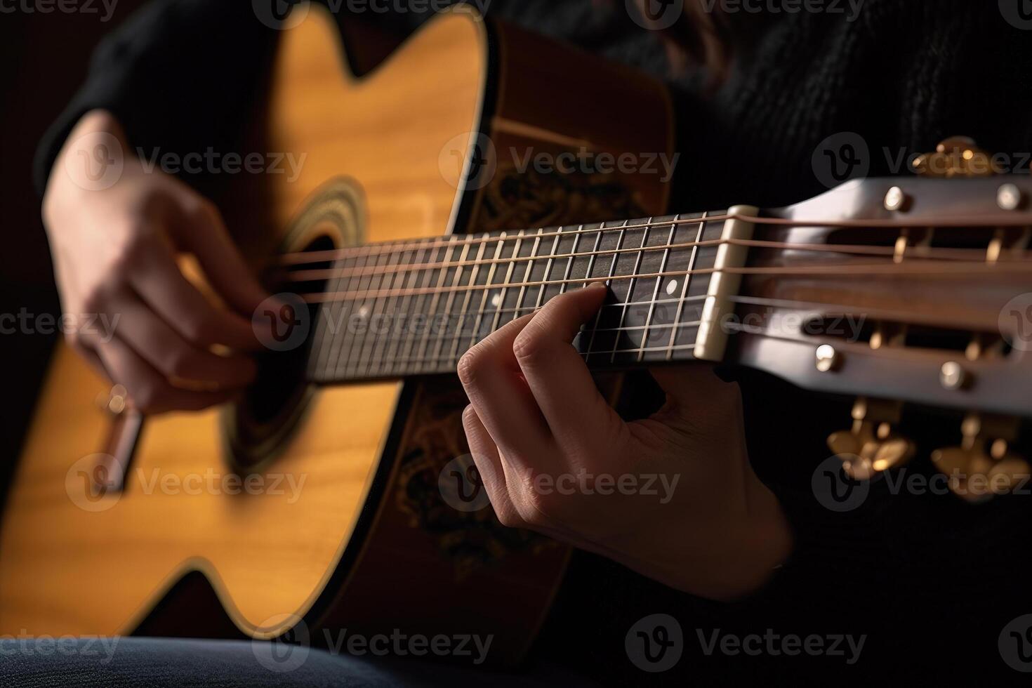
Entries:
<svg viewBox="0 0 1032 688">
<path fill-rule="evenodd" d="M 898 401 L 861 397 L 852 406 L 852 428 L 834 432 L 828 447 L 842 459 L 842 469 L 853 480 L 871 480 L 901 466 L 913 456 L 914 445 L 893 432 L 899 423 Z"/>
</svg>

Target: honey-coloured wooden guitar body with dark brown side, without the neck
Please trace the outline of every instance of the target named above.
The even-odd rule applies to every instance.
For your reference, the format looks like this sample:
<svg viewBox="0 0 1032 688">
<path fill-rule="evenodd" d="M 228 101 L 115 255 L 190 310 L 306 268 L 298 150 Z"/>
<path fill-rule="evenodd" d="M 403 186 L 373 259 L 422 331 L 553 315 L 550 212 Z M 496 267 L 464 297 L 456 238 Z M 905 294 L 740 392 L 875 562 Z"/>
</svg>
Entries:
<svg viewBox="0 0 1032 688">
<path fill-rule="evenodd" d="M 560 89 L 560 69 L 588 76 Z M 238 175 L 222 203 L 256 265 L 320 237 L 666 209 L 659 175 L 536 176 L 508 153 L 669 154 L 663 88 L 472 13 L 436 19 L 357 78 L 334 20 L 313 8 L 283 33 L 267 93 L 250 150 L 304 158 L 296 178 Z M 471 185 L 477 132 L 496 164 Z M 505 184 L 537 191 L 514 199 Z M 450 378 L 305 389 L 260 441 L 234 431 L 232 409 L 148 419 L 124 490 L 95 494 L 108 387 L 57 347 L 0 524 L 0 634 L 493 633 L 495 662 L 533 640 L 569 553 L 445 503 L 442 468 L 467 451 Z"/>
</svg>

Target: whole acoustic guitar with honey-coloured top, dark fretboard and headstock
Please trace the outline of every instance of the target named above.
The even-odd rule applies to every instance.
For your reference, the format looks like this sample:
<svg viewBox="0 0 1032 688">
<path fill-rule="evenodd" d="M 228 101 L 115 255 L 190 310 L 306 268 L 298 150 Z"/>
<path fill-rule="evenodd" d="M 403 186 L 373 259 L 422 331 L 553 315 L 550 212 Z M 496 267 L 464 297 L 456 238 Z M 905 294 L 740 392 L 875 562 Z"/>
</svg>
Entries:
<svg viewBox="0 0 1032 688">
<path fill-rule="evenodd" d="M 912 177 L 665 215 L 669 179 L 643 165 L 673 155 L 659 83 L 473 11 L 358 78 L 334 20 L 303 11 L 253 150 L 305 162 L 221 203 L 288 295 L 255 315 L 259 380 L 144 422 L 58 346 L 3 514 L 0 633 L 480 633 L 517 661 L 569 550 L 485 507 L 451 373 L 594 282 L 609 300 L 573 345 L 614 399 L 607 371 L 751 366 L 856 398 L 830 440 L 854 479 L 913 454 L 904 403 L 957 417 L 963 443 L 933 459 L 958 493 L 1028 472 L 1027 178 L 976 176 L 986 155 L 954 139 Z M 555 168 L 522 164 L 539 154 Z"/>
</svg>

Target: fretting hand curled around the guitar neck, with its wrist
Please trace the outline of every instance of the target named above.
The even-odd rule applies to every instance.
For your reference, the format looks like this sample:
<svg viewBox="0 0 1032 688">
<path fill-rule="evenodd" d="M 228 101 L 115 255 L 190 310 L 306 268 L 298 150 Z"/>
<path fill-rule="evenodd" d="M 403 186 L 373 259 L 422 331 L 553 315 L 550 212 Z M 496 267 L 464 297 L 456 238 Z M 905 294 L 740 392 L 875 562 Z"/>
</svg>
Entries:
<svg viewBox="0 0 1032 688">
<path fill-rule="evenodd" d="M 791 550 L 746 456 L 738 387 L 704 364 L 653 370 L 667 404 L 625 423 L 571 346 L 602 305 L 553 298 L 474 347 L 458 372 L 466 437 L 503 524 L 713 599 L 754 591 Z"/>
</svg>

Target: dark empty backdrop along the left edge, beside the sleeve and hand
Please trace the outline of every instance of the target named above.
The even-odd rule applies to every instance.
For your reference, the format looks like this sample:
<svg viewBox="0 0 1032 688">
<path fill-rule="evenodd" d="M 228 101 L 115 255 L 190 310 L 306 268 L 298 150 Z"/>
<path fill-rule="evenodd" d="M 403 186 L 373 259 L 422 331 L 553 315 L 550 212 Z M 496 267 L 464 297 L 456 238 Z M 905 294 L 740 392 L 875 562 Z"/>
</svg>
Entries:
<svg viewBox="0 0 1032 688">
<path fill-rule="evenodd" d="M 24 307 L 34 315 L 60 314 L 50 249 L 32 184 L 36 143 L 78 88 L 101 36 L 144 0 L 118 0 L 105 11 L 26 12 L 18 5 L 0 13 L 0 314 Z M 6 400 L 0 403 L 0 488 L 21 454 L 21 443 L 57 335 L 0 334 Z"/>
</svg>

